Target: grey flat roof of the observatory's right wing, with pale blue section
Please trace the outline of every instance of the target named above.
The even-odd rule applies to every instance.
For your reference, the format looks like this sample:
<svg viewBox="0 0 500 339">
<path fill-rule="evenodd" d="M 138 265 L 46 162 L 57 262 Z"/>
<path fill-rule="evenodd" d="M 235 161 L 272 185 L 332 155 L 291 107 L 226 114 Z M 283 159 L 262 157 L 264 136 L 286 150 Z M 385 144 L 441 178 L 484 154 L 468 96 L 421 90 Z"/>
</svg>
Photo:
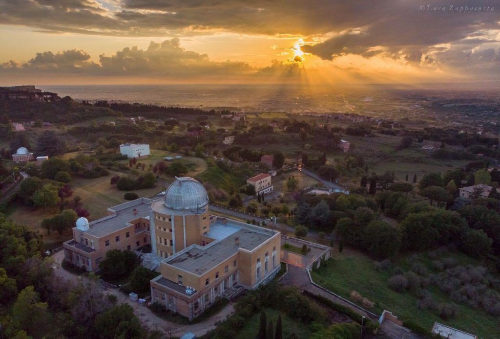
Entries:
<svg viewBox="0 0 500 339">
<path fill-rule="evenodd" d="M 213 237 L 222 238 L 215 238 L 217 241 L 204 247 L 190 246 L 178 255 L 163 260 L 163 262 L 190 273 L 202 275 L 237 253 L 240 248 L 251 251 L 275 234 L 273 231 L 260 229 L 249 224 L 241 223 L 238 225 L 237 221 L 230 219 L 226 219 L 225 224 L 217 219 L 216 223 L 210 226 L 210 232 L 207 233 L 207 236 L 210 236 L 210 233 Z M 239 239 L 238 244 L 236 244 L 236 238 Z"/>
</svg>

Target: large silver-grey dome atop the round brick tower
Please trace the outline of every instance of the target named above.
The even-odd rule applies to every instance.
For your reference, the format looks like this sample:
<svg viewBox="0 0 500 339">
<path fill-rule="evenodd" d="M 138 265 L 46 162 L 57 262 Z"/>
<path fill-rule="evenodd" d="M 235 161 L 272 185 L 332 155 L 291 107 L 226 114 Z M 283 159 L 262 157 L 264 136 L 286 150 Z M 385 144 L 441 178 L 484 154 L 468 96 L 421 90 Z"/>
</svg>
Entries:
<svg viewBox="0 0 500 339">
<path fill-rule="evenodd" d="M 166 207 L 175 210 L 194 210 L 208 205 L 208 195 L 199 181 L 189 177 L 176 179 L 166 190 Z"/>
</svg>

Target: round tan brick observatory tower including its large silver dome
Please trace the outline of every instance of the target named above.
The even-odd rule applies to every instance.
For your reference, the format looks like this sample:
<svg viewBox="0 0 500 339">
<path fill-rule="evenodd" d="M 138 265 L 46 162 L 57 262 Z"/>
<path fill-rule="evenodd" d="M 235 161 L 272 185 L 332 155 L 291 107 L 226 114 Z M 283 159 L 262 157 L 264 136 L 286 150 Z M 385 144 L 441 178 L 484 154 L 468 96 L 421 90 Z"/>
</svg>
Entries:
<svg viewBox="0 0 500 339">
<path fill-rule="evenodd" d="M 201 183 L 175 177 L 164 200 L 151 205 L 152 252 L 166 258 L 192 244 L 204 245 L 209 231 L 208 195 Z"/>
</svg>

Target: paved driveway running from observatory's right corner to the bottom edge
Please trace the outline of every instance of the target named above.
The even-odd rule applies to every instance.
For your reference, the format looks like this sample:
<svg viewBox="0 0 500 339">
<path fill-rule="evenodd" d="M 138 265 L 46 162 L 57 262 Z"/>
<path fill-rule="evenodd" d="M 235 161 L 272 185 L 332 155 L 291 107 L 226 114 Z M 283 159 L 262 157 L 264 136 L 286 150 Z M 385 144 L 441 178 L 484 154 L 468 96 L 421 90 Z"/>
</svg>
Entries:
<svg viewBox="0 0 500 339">
<path fill-rule="evenodd" d="M 361 315 L 364 315 L 372 321 L 378 321 L 378 317 L 373 316 L 372 314 L 367 313 L 348 302 L 345 302 L 343 299 L 336 297 L 335 295 L 313 285 L 310 282 L 309 275 L 304 268 L 288 265 L 288 273 L 281 279 L 281 282 L 283 284 L 297 286 L 298 288 L 307 290 L 308 292 L 311 292 L 313 294 L 321 295 L 335 303 L 339 303 L 341 305 L 349 307 L 350 309 L 360 313 Z M 390 339 L 423 339 L 419 335 L 410 331 L 408 328 L 399 326 L 391 321 L 382 322 L 379 331 L 381 331 L 385 335 L 385 337 Z"/>
</svg>

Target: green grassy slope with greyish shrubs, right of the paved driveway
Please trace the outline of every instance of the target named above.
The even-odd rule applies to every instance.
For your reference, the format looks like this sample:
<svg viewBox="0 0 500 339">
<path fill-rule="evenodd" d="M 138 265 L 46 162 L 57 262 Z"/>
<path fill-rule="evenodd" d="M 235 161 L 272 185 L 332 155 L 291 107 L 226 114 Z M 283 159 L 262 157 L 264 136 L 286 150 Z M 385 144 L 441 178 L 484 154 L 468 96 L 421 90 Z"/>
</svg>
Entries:
<svg viewBox="0 0 500 339">
<path fill-rule="evenodd" d="M 446 256 L 453 256 L 459 264 L 474 263 L 472 259 L 459 254 L 448 253 Z M 427 266 L 429 272 L 434 272 L 430 268 L 430 259 L 426 254 L 420 254 L 419 260 Z M 500 337 L 500 327 L 498 319 L 486 313 L 482 309 L 473 309 L 464 303 L 457 303 L 457 315 L 449 320 L 441 319 L 431 310 L 418 309 L 417 298 L 409 291 L 397 293 L 387 285 L 387 279 L 391 276 L 391 269 L 377 271 L 374 261 L 356 251 L 347 250 L 333 254 L 333 260 L 328 265 L 321 267 L 317 271 L 311 272 L 314 282 L 329 290 L 350 299 L 350 292 L 356 290 L 363 297 L 375 302 L 374 311 L 378 314 L 386 309 L 398 316 L 400 320 L 412 319 L 425 328 L 430 329 L 435 321 L 452 327 L 473 333 L 483 338 Z M 402 256 L 396 260 L 395 266 L 408 270 L 410 267 L 409 257 Z M 427 288 L 435 297 L 437 302 L 450 302 L 448 295 L 429 285 Z"/>
</svg>

